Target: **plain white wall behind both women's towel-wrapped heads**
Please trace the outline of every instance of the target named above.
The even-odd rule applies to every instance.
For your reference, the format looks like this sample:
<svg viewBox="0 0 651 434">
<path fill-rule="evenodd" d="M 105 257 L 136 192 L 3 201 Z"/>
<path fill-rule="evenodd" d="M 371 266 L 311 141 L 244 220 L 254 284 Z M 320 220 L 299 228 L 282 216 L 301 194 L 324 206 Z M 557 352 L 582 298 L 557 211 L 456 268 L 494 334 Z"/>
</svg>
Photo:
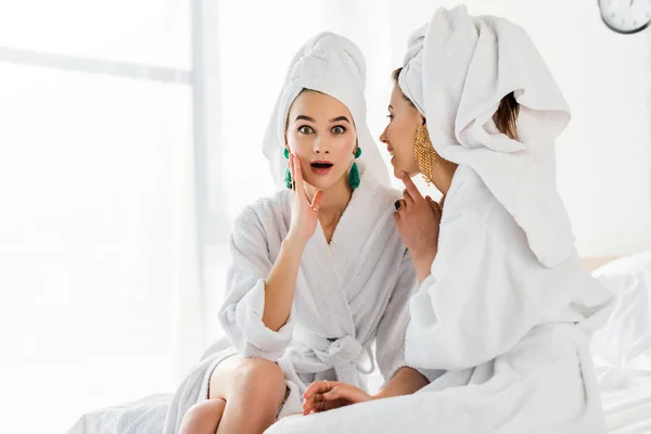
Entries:
<svg viewBox="0 0 651 434">
<path fill-rule="evenodd" d="M 467 1 L 471 13 L 507 16 L 536 41 L 574 112 L 558 143 L 559 186 L 579 253 L 623 255 L 651 248 L 651 30 L 617 36 L 602 25 L 596 3 Z M 221 177 L 226 192 L 210 207 L 222 207 L 232 221 L 246 204 L 273 191 L 259 143 L 289 62 L 308 37 L 337 31 L 363 51 L 368 123 L 378 138 L 387 120 L 391 72 L 401 66 L 408 35 L 437 7 L 456 2 L 220 0 L 219 5 L 224 128 L 220 158 L 210 171 Z M 221 303 L 227 261 L 224 245 L 206 252 L 207 310 Z M 210 339 L 219 328 L 214 315 L 207 317 Z"/>
</svg>

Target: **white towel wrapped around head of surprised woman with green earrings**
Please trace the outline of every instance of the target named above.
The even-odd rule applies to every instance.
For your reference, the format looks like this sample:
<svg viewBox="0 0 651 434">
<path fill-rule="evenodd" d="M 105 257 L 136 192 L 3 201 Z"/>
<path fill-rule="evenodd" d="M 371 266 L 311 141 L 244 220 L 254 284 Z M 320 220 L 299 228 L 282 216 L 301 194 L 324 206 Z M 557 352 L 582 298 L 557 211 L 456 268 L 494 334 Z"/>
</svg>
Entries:
<svg viewBox="0 0 651 434">
<path fill-rule="evenodd" d="M 290 64 L 263 141 L 263 153 L 278 188 L 285 188 L 283 149 L 288 114 L 303 89 L 326 93 L 348 107 L 362 150 L 357 161 L 360 170 L 370 170 L 381 183 L 388 186 L 388 170 L 367 125 L 365 87 L 363 54 L 350 40 L 321 33 L 303 44 Z"/>
</svg>

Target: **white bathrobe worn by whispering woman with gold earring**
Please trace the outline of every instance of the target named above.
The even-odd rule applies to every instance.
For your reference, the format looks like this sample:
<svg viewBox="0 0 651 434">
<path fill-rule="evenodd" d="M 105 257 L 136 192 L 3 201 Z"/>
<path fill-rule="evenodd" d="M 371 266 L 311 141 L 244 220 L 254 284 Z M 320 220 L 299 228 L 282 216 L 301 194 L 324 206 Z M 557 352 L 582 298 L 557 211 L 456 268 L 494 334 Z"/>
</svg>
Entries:
<svg viewBox="0 0 651 434">
<path fill-rule="evenodd" d="M 540 265 L 513 217 L 460 166 L 432 273 L 409 303 L 407 362 L 432 383 L 267 433 L 605 433 L 588 342 L 609 299 L 575 252 Z"/>
</svg>

